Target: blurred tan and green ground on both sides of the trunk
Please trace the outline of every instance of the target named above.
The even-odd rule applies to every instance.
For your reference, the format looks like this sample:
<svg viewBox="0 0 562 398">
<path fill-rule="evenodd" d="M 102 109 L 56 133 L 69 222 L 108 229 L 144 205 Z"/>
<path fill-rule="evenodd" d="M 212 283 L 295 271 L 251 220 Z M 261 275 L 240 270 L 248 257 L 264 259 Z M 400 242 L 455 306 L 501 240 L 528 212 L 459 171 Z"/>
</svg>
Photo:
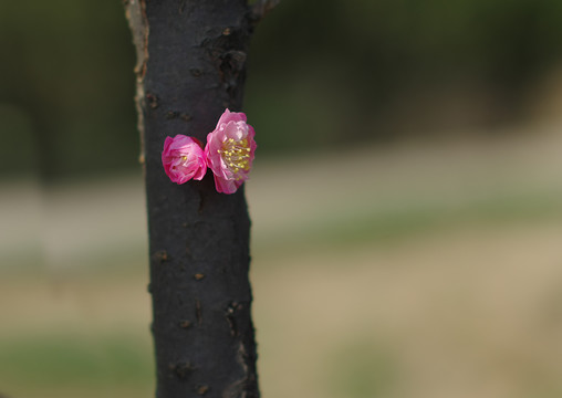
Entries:
<svg viewBox="0 0 562 398">
<path fill-rule="evenodd" d="M 263 396 L 562 396 L 559 132 L 258 159 Z M 140 176 L 6 181 L 0 217 L 0 394 L 152 397 Z"/>
</svg>

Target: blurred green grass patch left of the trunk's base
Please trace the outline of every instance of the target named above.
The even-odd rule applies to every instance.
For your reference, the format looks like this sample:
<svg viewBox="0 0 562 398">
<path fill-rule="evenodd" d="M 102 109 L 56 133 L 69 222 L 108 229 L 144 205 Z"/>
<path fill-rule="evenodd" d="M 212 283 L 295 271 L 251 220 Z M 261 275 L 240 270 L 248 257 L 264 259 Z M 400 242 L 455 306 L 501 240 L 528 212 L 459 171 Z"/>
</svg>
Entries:
<svg viewBox="0 0 562 398">
<path fill-rule="evenodd" d="M 128 386 L 149 391 L 154 366 L 147 343 L 137 335 L 64 331 L 11 336 L 0 342 L 0 385 L 29 389 L 25 396 L 60 386 L 87 390 Z"/>
</svg>

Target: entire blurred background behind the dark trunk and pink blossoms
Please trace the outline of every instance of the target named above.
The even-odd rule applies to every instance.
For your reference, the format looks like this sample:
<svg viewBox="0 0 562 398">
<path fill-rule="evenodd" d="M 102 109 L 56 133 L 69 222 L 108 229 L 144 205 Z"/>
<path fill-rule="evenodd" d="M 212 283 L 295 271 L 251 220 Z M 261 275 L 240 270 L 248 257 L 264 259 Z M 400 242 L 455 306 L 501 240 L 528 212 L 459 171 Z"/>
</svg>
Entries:
<svg viewBox="0 0 562 398">
<path fill-rule="evenodd" d="M 562 2 L 283 0 L 252 42 L 264 397 L 562 396 Z M 0 3 L 0 396 L 154 395 L 117 0 Z"/>
</svg>

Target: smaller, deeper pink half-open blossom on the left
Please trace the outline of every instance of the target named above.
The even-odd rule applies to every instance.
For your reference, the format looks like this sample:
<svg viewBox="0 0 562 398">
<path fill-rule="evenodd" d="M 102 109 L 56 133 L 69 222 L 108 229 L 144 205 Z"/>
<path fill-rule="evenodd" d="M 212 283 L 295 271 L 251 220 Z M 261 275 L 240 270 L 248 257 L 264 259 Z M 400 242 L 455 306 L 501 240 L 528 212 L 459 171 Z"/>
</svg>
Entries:
<svg viewBox="0 0 562 398">
<path fill-rule="evenodd" d="M 207 172 L 205 153 L 199 140 L 178 134 L 166 137 L 162 153 L 164 170 L 173 182 L 185 184 L 188 180 L 200 180 Z"/>
</svg>

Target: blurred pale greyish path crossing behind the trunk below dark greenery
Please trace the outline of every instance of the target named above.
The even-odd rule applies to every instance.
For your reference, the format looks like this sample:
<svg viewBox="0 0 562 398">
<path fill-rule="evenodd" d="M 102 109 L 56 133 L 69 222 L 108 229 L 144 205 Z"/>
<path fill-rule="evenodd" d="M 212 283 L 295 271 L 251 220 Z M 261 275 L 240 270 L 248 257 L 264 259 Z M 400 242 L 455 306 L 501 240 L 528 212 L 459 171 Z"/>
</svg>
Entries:
<svg viewBox="0 0 562 398">
<path fill-rule="evenodd" d="M 253 248 L 302 243 L 305 237 L 341 226 L 371 228 L 388 214 L 407 217 L 413 210 L 455 214 L 458 209 L 502 200 L 554 206 L 562 192 L 562 134 L 555 128 L 522 133 L 509 139 L 354 147 L 271 160 L 258 157 L 247 184 Z M 144 262 L 147 239 L 140 174 L 46 189 L 33 181 L 0 187 L 3 268 L 25 259 L 35 263 L 42 259 L 54 268 L 100 264 L 101 260 Z"/>
</svg>

